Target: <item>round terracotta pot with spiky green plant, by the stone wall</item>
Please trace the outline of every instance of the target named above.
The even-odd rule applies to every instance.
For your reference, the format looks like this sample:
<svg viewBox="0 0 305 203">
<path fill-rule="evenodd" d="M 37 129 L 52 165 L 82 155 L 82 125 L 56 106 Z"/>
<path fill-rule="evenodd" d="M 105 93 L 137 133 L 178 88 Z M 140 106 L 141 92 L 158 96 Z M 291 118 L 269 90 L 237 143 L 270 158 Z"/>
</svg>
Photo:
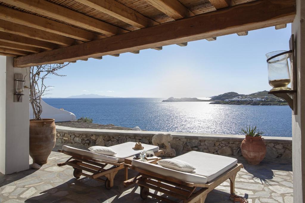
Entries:
<svg viewBox="0 0 305 203">
<path fill-rule="evenodd" d="M 245 133 L 246 138 L 242 141 L 240 149 L 242 156 L 251 165 L 258 165 L 266 156 L 266 145 L 264 143 L 264 134 L 257 130 L 257 127 L 242 128 L 242 133 Z"/>
</svg>

